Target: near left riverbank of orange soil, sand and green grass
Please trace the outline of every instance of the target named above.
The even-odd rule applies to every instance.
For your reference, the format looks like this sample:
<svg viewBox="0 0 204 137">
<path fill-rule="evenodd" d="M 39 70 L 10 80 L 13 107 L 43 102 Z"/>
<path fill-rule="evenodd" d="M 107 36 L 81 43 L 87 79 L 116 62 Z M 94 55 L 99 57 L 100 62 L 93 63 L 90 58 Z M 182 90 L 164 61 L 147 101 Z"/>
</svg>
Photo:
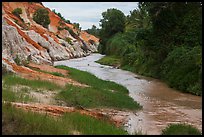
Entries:
<svg viewBox="0 0 204 137">
<path fill-rule="evenodd" d="M 3 75 L 3 134 L 127 134 L 125 111 L 141 109 L 125 87 L 87 72 L 66 66 L 29 68 L 29 76 Z"/>
</svg>

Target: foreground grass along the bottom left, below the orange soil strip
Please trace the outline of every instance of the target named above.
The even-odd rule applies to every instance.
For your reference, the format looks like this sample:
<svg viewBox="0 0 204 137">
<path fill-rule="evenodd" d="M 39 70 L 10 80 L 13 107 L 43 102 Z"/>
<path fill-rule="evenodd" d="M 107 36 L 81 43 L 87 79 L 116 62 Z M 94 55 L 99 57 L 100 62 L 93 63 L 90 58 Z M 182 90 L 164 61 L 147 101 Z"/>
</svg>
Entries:
<svg viewBox="0 0 204 137">
<path fill-rule="evenodd" d="M 3 135 L 66 135 L 80 134 L 127 134 L 121 128 L 79 113 L 66 113 L 62 117 L 23 111 L 10 104 L 2 106 Z"/>
</svg>

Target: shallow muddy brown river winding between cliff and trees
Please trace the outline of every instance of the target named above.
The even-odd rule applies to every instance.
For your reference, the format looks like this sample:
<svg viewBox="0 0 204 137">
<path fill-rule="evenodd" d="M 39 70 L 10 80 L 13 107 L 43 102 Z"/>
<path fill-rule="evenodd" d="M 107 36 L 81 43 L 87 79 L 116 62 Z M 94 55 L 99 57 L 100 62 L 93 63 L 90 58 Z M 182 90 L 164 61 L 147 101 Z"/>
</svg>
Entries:
<svg viewBox="0 0 204 137">
<path fill-rule="evenodd" d="M 125 129 L 129 134 L 161 134 L 161 130 L 168 124 L 181 122 L 202 130 L 201 97 L 178 92 L 153 78 L 94 62 L 102 57 L 101 54 L 92 54 L 84 58 L 58 61 L 54 65 L 67 65 L 88 71 L 101 79 L 127 87 L 129 96 L 143 106 L 141 111 L 128 116 Z"/>
</svg>

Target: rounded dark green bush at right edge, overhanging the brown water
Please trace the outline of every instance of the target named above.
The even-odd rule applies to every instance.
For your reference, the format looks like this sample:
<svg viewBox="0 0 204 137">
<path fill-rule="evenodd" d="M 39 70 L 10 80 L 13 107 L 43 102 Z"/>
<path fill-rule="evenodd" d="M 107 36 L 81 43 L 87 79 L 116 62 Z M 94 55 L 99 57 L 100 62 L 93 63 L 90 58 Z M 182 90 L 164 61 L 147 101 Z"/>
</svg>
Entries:
<svg viewBox="0 0 204 137">
<path fill-rule="evenodd" d="M 201 95 L 201 47 L 180 46 L 171 51 L 162 65 L 162 77 L 172 87 Z"/>
</svg>

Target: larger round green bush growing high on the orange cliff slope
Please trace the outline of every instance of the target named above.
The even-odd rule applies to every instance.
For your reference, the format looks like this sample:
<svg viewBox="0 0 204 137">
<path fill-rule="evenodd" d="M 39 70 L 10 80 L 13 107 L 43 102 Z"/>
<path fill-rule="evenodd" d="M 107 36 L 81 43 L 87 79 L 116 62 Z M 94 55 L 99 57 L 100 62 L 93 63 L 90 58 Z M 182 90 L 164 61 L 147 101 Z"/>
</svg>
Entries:
<svg viewBox="0 0 204 137">
<path fill-rule="evenodd" d="M 43 27 L 48 28 L 50 24 L 49 12 L 44 8 L 39 8 L 33 14 L 33 20 Z"/>
</svg>

